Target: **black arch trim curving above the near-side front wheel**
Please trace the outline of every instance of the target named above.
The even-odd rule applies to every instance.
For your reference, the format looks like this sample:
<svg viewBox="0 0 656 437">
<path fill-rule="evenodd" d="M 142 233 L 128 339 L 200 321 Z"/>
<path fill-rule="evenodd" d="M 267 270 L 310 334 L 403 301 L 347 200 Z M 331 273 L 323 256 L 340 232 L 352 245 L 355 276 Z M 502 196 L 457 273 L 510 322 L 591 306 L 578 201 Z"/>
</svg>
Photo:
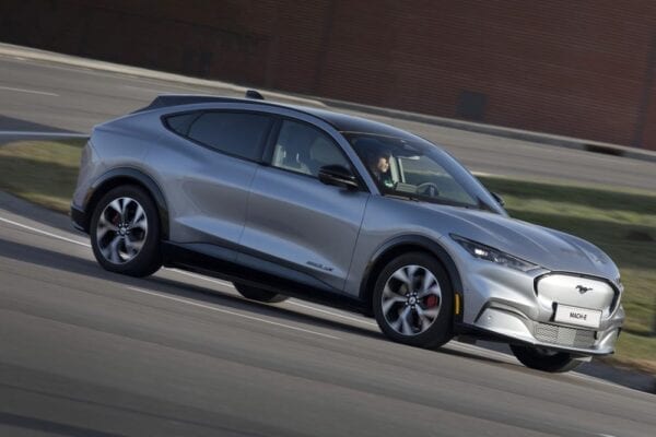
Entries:
<svg viewBox="0 0 656 437">
<path fill-rule="evenodd" d="M 393 259 L 409 252 L 424 252 L 434 257 L 446 271 L 450 281 L 453 291 L 457 298 L 457 309 L 455 314 L 455 320 L 460 322 L 462 320 L 462 280 L 460 273 L 453 258 L 448 255 L 446 249 L 442 247 L 435 240 L 421 236 L 421 235 L 405 235 L 395 237 L 384 243 L 372 257 L 367 263 L 362 282 L 360 284 L 360 298 L 366 303 L 366 307 L 372 307 L 372 297 L 374 294 L 374 285 L 378 273 L 385 268 L 385 265 Z"/>
</svg>

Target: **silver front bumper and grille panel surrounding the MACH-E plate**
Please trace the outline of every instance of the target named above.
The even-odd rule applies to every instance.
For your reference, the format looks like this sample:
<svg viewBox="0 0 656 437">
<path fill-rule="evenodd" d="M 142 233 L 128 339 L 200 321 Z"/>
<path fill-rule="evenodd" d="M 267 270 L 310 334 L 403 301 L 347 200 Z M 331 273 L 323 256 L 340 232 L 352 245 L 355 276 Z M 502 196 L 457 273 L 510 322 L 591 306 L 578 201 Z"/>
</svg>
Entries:
<svg viewBox="0 0 656 437">
<path fill-rule="evenodd" d="M 535 274 L 482 265 L 481 270 L 467 277 L 465 290 L 464 324 L 483 336 L 492 336 L 515 344 L 559 350 L 575 355 L 608 355 L 624 321 L 620 305 L 621 292 L 602 279 L 587 277 L 573 273 L 558 273 L 565 277 L 563 290 L 538 285 L 541 277 L 552 277 L 553 272 Z M 596 287 L 600 282 L 608 284 L 605 295 L 581 295 L 567 277 L 577 277 L 575 283 L 590 281 Z M 547 283 L 547 281 L 546 281 Z M 572 290 L 570 290 L 572 288 Z M 591 288 L 590 288 L 591 290 Z M 585 300 L 585 299 L 588 300 Z M 557 304 L 600 309 L 599 328 L 590 329 L 553 320 Z"/>
</svg>

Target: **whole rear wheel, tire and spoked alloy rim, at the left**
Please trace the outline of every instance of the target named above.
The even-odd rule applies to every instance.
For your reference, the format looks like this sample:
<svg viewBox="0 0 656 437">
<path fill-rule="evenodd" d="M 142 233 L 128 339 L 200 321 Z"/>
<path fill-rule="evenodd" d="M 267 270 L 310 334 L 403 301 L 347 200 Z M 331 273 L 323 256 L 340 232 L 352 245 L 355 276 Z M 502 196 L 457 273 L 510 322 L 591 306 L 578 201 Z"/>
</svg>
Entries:
<svg viewBox="0 0 656 437">
<path fill-rule="evenodd" d="M 157 210 L 140 187 L 120 186 L 103 196 L 90 234 L 93 255 L 105 270 L 147 276 L 162 265 Z"/>
</svg>

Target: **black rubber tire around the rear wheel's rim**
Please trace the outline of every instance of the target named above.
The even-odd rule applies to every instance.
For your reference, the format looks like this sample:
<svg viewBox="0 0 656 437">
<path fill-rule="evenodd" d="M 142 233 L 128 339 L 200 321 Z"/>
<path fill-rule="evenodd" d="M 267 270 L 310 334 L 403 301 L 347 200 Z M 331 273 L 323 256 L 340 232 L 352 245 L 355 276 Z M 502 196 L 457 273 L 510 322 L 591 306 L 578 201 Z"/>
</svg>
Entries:
<svg viewBox="0 0 656 437">
<path fill-rule="evenodd" d="M 108 208 L 108 205 L 115 200 L 119 199 L 131 199 L 136 202 L 137 205 L 140 205 L 142 208 L 145 217 L 141 218 L 140 222 L 147 225 L 147 231 L 144 232 L 142 229 L 142 226 L 141 228 L 134 227 L 127 229 L 125 231 L 125 235 L 120 235 L 118 232 L 114 231 L 106 231 L 105 233 L 103 233 L 98 240 L 98 235 L 102 233 L 102 231 L 98 231 L 98 222 L 101 221 L 101 215 L 105 214 L 104 223 L 107 223 L 107 215 L 110 215 L 113 212 L 115 212 L 115 210 Z M 121 202 L 124 204 L 126 203 L 125 200 Z M 120 216 L 117 220 L 120 223 L 125 222 L 126 226 L 128 226 L 129 222 L 133 222 L 137 217 L 133 216 L 136 215 L 136 212 L 131 211 L 133 210 L 132 203 L 130 203 L 130 205 L 127 206 L 126 210 L 127 216 L 125 217 L 125 220 L 121 221 L 122 214 L 120 214 Z M 132 217 L 129 216 L 130 214 L 132 214 Z M 116 223 L 112 223 L 112 225 L 115 226 Z M 141 244 L 141 247 L 136 255 L 131 256 L 131 258 L 108 258 L 106 255 L 103 253 L 102 245 L 104 244 L 104 241 L 107 238 L 114 239 L 118 237 L 119 239 L 122 238 L 122 247 L 126 251 L 126 255 L 130 256 L 130 253 L 127 253 L 128 249 L 126 240 L 131 241 L 129 239 L 131 238 L 130 235 L 134 237 L 134 235 L 137 234 L 140 234 L 140 236 L 142 236 L 143 239 L 140 241 L 134 241 Z M 103 269 L 108 270 L 110 272 L 138 277 L 148 276 L 149 274 L 156 272 L 162 267 L 160 235 L 160 217 L 157 215 L 157 209 L 155 206 L 155 203 L 153 202 L 153 200 L 147 191 L 137 186 L 119 186 L 109 190 L 96 203 L 95 209 L 93 211 L 93 215 L 91 217 L 90 237 L 93 255 L 95 256 L 98 263 L 103 267 Z M 120 243 L 118 246 L 120 246 Z M 105 247 L 105 250 L 107 251 L 109 249 Z M 112 252 L 112 250 L 109 251 Z M 120 250 L 118 251 L 120 252 Z M 114 260 L 112 260 L 110 258 L 114 258 Z"/>
</svg>

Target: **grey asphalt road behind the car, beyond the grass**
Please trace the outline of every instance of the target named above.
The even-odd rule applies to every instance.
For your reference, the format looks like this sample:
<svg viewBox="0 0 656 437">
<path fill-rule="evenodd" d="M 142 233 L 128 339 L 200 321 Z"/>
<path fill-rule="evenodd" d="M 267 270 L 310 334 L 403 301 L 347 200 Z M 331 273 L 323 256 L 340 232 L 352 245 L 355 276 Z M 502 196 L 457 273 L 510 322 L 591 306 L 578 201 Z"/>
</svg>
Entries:
<svg viewBox="0 0 656 437">
<path fill-rule="evenodd" d="M 237 96 L 227 88 L 218 91 L 0 57 L 0 140 L 1 131 L 65 130 L 87 133 L 94 125 L 143 107 L 162 93 Z M 425 137 L 445 146 L 475 172 L 656 190 L 656 163 L 343 111 L 388 122 Z"/>
</svg>

